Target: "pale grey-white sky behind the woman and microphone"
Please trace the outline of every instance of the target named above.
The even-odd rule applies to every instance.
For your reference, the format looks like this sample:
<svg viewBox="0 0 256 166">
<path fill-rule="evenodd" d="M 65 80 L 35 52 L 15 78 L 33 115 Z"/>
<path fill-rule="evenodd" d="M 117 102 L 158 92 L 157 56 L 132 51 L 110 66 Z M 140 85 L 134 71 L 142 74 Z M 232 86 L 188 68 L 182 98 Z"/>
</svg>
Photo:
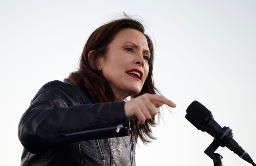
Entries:
<svg viewBox="0 0 256 166">
<path fill-rule="evenodd" d="M 1 165 L 20 164 L 17 126 L 39 88 L 74 71 L 93 30 L 123 11 L 150 30 L 156 86 L 178 105 L 176 114 L 163 108 L 157 140 L 139 141 L 137 165 L 213 165 L 204 154 L 213 138 L 185 119 L 194 100 L 256 161 L 256 1 L 0 0 Z M 226 147 L 217 152 L 224 165 L 250 165 Z"/>
</svg>

